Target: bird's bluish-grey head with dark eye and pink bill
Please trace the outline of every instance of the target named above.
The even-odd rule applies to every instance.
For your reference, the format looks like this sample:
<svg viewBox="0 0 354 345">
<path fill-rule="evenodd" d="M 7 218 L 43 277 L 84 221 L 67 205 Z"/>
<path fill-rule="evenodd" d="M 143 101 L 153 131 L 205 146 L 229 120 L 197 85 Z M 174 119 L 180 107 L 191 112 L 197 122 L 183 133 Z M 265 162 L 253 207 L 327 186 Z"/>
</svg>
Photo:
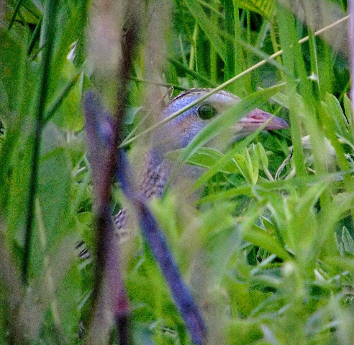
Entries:
<svg viewBox="0 0 354 345">
<path fill-rule="evenodd" d="M 161 119 L 180 110 L 198 98 L 204 96 L 211 89 L 191 89 L 184 91 L 174 98 L 162 111 Z M 153 145 L 162 154 L 167 151 L 181 149 L 188 145 L 199 131 L 210 123 L 216 116 L 240 102 L 237 96 L 221 90 L 208 97 L 200 104 L 190 108 L 175 119 L 159 128 L 153 135 Z M 230 134 L 238 137 L 254 132 L 269 119 L 272 114 L 255 109 L 230 128 Z M 264 128 L 265 130 L 287 128 L 287 123 L 274 116 Z"/>
</svg>

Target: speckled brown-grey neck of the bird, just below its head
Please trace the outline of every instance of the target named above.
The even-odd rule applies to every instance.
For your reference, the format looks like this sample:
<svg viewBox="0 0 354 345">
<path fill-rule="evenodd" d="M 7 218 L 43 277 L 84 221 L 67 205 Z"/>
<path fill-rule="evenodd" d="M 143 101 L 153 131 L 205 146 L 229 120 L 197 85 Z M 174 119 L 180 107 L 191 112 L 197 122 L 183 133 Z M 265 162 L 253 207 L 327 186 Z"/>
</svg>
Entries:
<svg viewBox="0 0 354 345">
<path fill-rule="evenodd" d="M 166 159 L 154 150 L 145 155 L 141 176 L 141 191 L 149 199 L 151 196 L 161 197 L 167 180 L 170 176 L 170 167 Z"/>
</svg>

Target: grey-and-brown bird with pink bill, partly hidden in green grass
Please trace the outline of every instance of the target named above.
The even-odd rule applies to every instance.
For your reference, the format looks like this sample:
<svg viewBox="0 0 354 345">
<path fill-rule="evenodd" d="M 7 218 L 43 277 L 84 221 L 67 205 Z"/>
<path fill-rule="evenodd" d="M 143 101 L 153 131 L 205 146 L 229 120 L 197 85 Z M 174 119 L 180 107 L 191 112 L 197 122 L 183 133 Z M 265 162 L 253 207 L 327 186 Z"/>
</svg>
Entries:
<svg viewBox="0 0 354 345">
<path fill-rule="evenodd" d="M 165 106 L 161 112 L 160 120 L 165 119 L 184 106 L 205 96 L 211 90 L 209 88 L 194 88 L 183 91 Z M 241 99 L 234 94 L 225 90 L 219 90 L 200 102 L 200 104 L 191 107 L 172 119 L 165 126 L 154 131 L 150 148 L 144 158 L 140 180 L 140 193 L 146 200 L 152 197 L 161 197 L 165 189 L 173 166 L 173 162 L 165 158 L 165 155 L 169 151 L 185 148 L 202 128 L 213 121 L 223 111 L 240 101 Z M 256 108 L 246 117 L 236 122 L 230 128 L 230 132 L 234 137 L 240 139 L 261 127 L 272 116 L 272 114 Z M 274 116 L 267 126 L 265 126 L 264 130 L 277 130 L 288 127 L 288 124 L 283 119 Z M 113 218 L 116 232 L 119 237 L 124 237 L 129 219 L 126 208 L 121 208 Z M 84 246 L 84 241 L 80 241 L 76 245 L 76 249 L 79 251 L 78 255 L 80 258 L 90 257 L 89 250 Z"/>
</svg>

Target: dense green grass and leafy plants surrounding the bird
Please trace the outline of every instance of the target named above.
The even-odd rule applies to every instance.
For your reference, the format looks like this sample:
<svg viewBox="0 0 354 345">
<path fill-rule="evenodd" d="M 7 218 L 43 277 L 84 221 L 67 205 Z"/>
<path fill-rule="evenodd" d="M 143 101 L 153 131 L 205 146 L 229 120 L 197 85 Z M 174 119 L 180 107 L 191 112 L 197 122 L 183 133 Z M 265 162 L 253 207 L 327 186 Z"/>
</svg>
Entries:
<svg viewBox="0 0 354 345">
<path fill-rule="evenodd" d="M 82 100 L 95 90 L 114 112 L 116 61 L 134 9 L 141 27 L 123 143 L 137 176 L 149 135 L 129 139 L 157 121 L 158 101 L 181 90 L 227 82 L 225 90 L 290 124 L 225 152 L 187 147 L 184 161 L 204 174 L 150 202 L 209 343 L 352 344 L 350 52 L 346 21 L 330 26 L 346 16 L 346 1 L 129 3 L 1 3 L 0 343 L 90 341 L 95 198 Z M 112 195 L 113 214 L 125 203 L 117 183 Z M 73 251 L 82 239 L 86 260 Z M 190 344 L 139 232 L 121 244 L 120 263 L 133 342 Z M 96 326 L 118 342 L 103 319 Z"/>
</svg>

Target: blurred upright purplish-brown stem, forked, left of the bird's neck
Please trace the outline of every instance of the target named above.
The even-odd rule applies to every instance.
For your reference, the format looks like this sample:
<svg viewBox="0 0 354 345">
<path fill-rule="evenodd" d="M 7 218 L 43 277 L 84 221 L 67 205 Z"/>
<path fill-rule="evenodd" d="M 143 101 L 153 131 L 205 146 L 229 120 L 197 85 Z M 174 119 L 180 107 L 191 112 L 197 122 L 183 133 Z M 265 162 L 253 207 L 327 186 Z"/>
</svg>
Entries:
<svg viewBox="0 0 354 345">
<path fill-rule="evenodd" d="M 92 175 L 97 196 L 96 237 L 97 261 L 93 289 L 93 312 L 90 320 L 89 343 L 102 341 L 102 313 L 107 297 L 114 317 L 119 344 L 132 343 L 129 320 L 129 298 L 119 268 L 119 249 L 114 234 L 110 210 L 111 181 L 115 167 L 122 164 L 116 155 L 118 141 L 122 136 L 122 124 L 127 98 L 127 82 L 131 70 L 133 51 L 138 43 L 140 21 L 133 11 L 134 2 L 129 3 L 129 27 L 122 39 L 122 60 L 117 66 L 118 87 L 116 112 L 112 121 L 107 111 L 92 93 L 86 95 L 85 115 L 89 152 L 92 159 Z M 104 334 L 105 335 L 105 334 Z"/>
</svg>

